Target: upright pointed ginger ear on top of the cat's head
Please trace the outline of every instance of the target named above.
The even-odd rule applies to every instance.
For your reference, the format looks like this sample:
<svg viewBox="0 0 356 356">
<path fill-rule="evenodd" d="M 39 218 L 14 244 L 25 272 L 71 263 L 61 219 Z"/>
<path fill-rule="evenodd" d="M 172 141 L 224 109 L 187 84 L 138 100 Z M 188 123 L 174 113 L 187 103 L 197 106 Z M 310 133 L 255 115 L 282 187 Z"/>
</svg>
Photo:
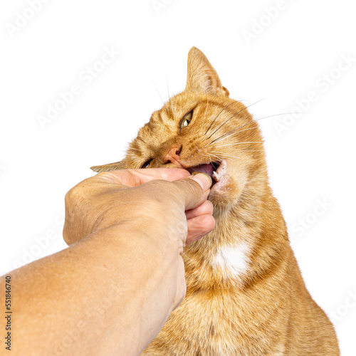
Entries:
<svg viewBox="0 0 356 356">
<path fill-rule="evenodd" d="M 188 53 L 188 75 L 185 90 L 229 96 L 229 90 L 222 86 L 218 73 L 197 47 L 192 47 Z"/>
</svg>

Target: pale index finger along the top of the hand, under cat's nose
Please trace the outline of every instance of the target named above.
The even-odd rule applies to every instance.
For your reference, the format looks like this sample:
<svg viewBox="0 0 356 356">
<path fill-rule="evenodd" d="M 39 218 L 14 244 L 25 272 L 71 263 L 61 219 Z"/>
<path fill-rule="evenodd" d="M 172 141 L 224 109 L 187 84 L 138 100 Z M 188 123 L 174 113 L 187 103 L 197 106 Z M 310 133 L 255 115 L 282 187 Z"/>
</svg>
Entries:
<svg viewBox="0 0 356 356">
<path fill-rule="evenodd" d="M 120 169 L 117 171 L 102 172 L 95 177 L 111 183 L 125 184 L 129 187 L 150 182 L 155 179 L 164 179 L 172 182 L 177 179 L 189 177 L 190 173 L 182 168 L 146 168 L 146 169 Z"/>
</svg>

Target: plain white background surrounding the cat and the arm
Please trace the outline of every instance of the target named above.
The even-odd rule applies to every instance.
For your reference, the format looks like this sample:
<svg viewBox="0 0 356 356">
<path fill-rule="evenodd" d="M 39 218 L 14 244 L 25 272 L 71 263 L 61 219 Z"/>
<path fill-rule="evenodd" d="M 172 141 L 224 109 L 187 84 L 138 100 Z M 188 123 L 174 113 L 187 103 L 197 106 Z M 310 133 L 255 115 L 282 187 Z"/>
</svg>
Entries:
<svg viewBox="0 0 356 356">
<path fill-rule="evenodd" d="M 271 186 L 310 293 L 334 315 L 342 355 L 356 355 L 352 1 L 47 0 L 36 13 L 29 2 L 0 5 L 0 274 L 66 247 L 66 192 L 123 157 L 167 82 L 171 95 L 184 89 L 197 46 L 232 98 L 264 98 L 254 117 L 303 112 L 259 121 Z M 120 55 L 100 65 L 105 48 Z M 41 127 L 72 85 L 80 94 Z"/>
</svg>

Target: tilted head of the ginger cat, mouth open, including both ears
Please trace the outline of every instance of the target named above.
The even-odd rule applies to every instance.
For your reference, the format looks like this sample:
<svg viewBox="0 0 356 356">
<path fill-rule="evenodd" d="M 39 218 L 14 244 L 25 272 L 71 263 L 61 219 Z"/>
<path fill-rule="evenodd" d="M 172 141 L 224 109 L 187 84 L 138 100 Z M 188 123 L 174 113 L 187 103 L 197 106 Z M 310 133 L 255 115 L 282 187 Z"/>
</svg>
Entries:
<svg viewBox="0 0 356 356">
<path fill-rule="evenodd" d="M 95 166 L 114 169 L 179 167 L 213 179 L 209 200 L 226 208 L 246 197 L 266 176 L 261 132 L 246 106 L 229 98 L 204 53 L 188 55 L 187 85 L 153 112 L 122 161 Z M 263 179 L 262 179 L 263 180 Z"/>
</svg>

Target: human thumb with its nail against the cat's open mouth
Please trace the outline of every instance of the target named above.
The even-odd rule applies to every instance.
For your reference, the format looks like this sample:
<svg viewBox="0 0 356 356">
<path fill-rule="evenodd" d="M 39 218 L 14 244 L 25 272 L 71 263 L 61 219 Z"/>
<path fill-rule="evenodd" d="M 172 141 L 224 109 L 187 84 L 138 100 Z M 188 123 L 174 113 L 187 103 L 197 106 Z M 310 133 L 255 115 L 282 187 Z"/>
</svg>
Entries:
<svg viewBox="0 0 356 356">
<path fill-rule="evenodd" d="M 172 182 L 181 194 L 184 210 L 194 209 L 208 198 L 212 184 L 208 174 L 198 173 Z"/>
</svg>

